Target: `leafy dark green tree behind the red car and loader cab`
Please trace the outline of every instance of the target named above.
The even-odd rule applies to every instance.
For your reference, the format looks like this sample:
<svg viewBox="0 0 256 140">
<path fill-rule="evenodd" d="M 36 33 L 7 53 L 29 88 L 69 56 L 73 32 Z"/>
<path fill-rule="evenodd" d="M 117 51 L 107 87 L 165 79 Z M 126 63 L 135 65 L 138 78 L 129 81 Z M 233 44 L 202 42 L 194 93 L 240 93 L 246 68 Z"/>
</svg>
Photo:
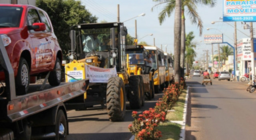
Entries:
<svg viewBox="0 0 256 140">
<path fill-rule="evenodd" d="M 49 15 L 54 33 L 65 55 L 70 50 L 70 27 L 80 23 L 95 23 L 93 16 L 80 1 L 76 0 L 36 0 L 36 6 Z"/>
</svg>

